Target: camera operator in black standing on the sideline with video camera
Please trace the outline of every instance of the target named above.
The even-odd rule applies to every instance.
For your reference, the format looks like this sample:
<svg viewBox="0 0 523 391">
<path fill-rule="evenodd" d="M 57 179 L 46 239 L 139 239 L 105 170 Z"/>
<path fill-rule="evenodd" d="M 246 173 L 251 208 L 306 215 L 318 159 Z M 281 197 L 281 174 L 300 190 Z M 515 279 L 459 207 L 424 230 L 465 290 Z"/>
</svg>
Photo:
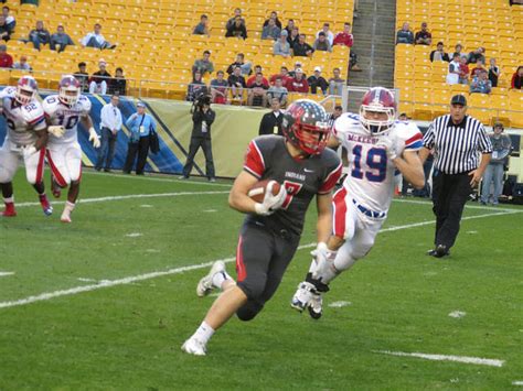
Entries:
<svg viewBox="0 0 523 391">
<path fill-rule="evenodd" d="M 205 175 L 210 182 L 215 182 L 211 124 L 214 122 L 216 113 L 211 109 L 211 96 L 207 94 L 199 95 L 191 108 L 191 113 L 193 122 L 191 144 L 189 145 L 188 160 L 183 166 L 183 176 L 180 178 L 189 178 L 194 164 L 194 155 L 202 148 L 205 155 Z"/>
</svg>

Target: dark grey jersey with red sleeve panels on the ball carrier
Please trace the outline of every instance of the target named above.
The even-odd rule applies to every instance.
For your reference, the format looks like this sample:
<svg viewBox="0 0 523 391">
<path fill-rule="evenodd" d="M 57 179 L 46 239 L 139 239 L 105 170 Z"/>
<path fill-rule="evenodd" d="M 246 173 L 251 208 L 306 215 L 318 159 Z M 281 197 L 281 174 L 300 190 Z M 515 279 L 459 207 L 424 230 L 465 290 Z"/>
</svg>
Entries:
<svg viewBox="0 0 523 391">
<path fill-rule="evenodd" d="M 250 141 L 244 170 L 258 180 L 274 180 L 287 189 L 280 209 L 270 216 L 248 215 L 246 222 L 257 222 L 276 231 L 301 235 L 305 215 L 317 194 L 328 194 L 340 178 L 342 164 L 332 150 L 305 159 L 292 158 L 281 135 L 262 135 Z"/>
</svg>

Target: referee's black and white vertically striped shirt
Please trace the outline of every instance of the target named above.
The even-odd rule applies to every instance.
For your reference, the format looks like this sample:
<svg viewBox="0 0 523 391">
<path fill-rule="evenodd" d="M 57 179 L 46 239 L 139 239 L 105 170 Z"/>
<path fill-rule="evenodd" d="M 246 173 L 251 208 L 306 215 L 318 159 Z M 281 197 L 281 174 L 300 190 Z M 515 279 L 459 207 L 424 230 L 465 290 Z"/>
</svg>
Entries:
<svg viewBox="0 0 523 391">
<path fill-rule="evenodd" d="M 476 118 L 465 116 L 455 124 L 450 115 L 436 118 L 423 138 L 435 154 L 435 167 L 445 174 L 461 174 L 478 169 L 480 153 L 492 153 L 492 143 Z"/>
</svg>

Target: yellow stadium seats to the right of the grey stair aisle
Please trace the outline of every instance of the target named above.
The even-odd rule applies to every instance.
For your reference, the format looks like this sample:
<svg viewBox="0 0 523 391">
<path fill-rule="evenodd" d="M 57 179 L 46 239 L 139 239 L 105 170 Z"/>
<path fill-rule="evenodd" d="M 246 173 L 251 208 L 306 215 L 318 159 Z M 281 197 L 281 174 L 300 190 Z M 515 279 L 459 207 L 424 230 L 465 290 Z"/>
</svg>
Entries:
<svg viewBox="0 0 523 391">
<path fill-rule="evenodd" d="M 447 112 L 449 97 L 469 97 L 470 113 L 484 123 L 500 120 L 505 126 L 523 126 L 523 93 L 509 90 L 512 74 L 523 65 L 523 7 L 508 0 L 405 0 L 396 2 L 396 28 L 408 22 L 414 31 L 427 22 L 433 45 L 396 45 L 394 85 L 399 89 L 399 108 L 415 119 Z M 447 85 L 448 63 L 429 59 L 438 41 L 452 53 L 457 43 L 463 53 L 485 47 L 487 66 L 497 58 L 501 68 L 499 86 L 490 96 L 469 95 L 468 86 Z"/>
</svg>

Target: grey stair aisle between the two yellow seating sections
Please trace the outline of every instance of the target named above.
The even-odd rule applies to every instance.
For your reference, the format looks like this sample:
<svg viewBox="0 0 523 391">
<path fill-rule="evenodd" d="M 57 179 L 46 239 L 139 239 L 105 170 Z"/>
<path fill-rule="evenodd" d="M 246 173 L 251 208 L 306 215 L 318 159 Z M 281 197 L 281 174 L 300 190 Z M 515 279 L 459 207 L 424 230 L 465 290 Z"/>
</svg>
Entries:
<svg viewBox="0 0 523 391">
<path fill-rule="evenodd" d="M 396 1 L 360 0 L 357 11 L 353 25 L 354 52 L 363 72 L 351 72 L 349 86 L 392 88 Z"/>
</svg>

